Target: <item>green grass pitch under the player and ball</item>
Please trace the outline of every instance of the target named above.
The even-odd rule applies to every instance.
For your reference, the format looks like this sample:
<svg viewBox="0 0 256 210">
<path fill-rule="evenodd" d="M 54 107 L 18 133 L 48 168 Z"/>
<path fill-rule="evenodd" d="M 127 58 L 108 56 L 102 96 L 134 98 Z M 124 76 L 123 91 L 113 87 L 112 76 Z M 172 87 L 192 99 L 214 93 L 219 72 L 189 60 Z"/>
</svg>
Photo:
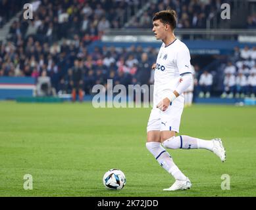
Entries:
<svg viewBox="0 0 256 210">
<path fill-rule="evenodd" d="M 90 103 L 0 102 L 0 196 L 256 196 L 255 107 L 185 108 L 181 135 L 221 137 L 227 160 L 207 150 L 168 150 L 192 189 L 164 192 L 174 179 L 145 148 L 149 108 Z M 106 190 L 104 173 L 121 169 L 123 190 Z M 33 190 L 23 177 L 33 176 Z M 221 190 L 223 174 L 230 190 Z"/>
</svg>

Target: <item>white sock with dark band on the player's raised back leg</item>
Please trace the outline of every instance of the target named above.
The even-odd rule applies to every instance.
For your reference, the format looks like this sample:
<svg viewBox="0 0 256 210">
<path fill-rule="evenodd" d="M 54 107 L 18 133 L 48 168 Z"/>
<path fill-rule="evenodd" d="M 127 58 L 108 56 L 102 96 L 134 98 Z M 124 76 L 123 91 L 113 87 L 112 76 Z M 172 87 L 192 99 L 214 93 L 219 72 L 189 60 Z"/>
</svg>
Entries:
<svg viewBox="0 0 256 210">
<path fill-rule="evenodd" d="M 213 150 L 213 141 L 212 140 L 203 140 L 200 138 L 193 138 L 189 136 L 178 136 L 178 137 L 171 137 L 166 139 L 163 142 L 163 146 L 165 148 L 170 149 L 207 149 Z"/>
</svg>

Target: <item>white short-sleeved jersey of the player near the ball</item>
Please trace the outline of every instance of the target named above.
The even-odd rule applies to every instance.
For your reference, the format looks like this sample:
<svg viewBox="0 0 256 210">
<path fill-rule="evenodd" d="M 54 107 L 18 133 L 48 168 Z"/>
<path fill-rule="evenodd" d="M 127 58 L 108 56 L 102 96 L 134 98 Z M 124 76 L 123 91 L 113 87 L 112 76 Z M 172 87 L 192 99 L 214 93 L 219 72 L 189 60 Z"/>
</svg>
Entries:
<svg viewBox="0 0 256 210">
<path fill-rule="evenodd" d="M 180 75 L 186 72 L 192 73 L 188 47 L 179 39 L 168 46 L 163 43 L 157 55 L 154 94 L 174 91 L 180 83 Z"/>
</svg>

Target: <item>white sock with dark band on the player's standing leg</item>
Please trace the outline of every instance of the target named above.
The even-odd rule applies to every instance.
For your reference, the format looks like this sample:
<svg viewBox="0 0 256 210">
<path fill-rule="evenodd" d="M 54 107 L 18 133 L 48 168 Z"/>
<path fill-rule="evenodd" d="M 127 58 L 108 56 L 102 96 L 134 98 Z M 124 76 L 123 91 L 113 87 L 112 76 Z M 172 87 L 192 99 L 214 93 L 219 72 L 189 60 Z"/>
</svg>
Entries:
<svg viewBox="0 0 256 210">
<path fill-rule="evenodd" d="M 147 142 L 146 143 L 147 150 L 153 154 L 155 159 L 159 162 L 159 164 L 170 173 L 174 179 L 178 180 L 186 180 L 186 176 L 178 169 L 178 167 L 173 162 L 170 154 L 166 152 L 166 150 L 161 146 L 160 142 Z"/>
</svg>

